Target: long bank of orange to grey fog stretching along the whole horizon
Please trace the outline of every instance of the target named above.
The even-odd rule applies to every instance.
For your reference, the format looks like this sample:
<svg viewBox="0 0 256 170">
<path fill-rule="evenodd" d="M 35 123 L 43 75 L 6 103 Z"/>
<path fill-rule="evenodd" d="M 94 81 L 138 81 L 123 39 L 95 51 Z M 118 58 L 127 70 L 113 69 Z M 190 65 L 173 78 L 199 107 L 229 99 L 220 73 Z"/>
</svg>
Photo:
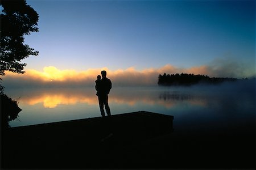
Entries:
<svg viewBox="0 0 256 170">
<path fill-rule="evenodd" d="M 108 78 L 114 86 L 154 86 L 158 82 L 159 74 L 191 73 L 204 74 L 210 77 L 245 78 L 253 76 L 253 72 L 238 65 L 237 62 L 218 59 L 210 65 L 178 68 L 167 64 L 158 69 L 137 70 L 134 67 L 128 69 L 109 70 L 108 68 L 88 69 L 84 71 L 59 70 L 54 66 L 44 67 L 43 71 L 26 70 L 24 74 L 7 72 L 3 77 L 5 87 L 76 87 L 94 86 L 96 76 L 106 70 Z M 250 74 L 253 73 L 253 74 Z"/>
</svg>

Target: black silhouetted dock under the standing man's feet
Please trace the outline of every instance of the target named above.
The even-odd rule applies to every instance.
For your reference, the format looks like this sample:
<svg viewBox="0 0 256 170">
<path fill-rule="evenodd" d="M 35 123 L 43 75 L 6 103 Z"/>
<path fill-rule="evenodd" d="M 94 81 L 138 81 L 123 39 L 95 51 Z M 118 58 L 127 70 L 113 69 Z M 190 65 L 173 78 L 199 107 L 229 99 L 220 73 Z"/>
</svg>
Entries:
<svg viewBox="0 0 256 170">
<path fill-rule="evenodd" d="M 172 133 L 173 119 L 173 116 L 140 111 L 11 128 L 2 143 L 1 167 L 129 168 L 141 162 L 136 152 L 144 143 Z M 143 148 L 143 152 L 150 153 L 150 150 Z"/>
</svg>

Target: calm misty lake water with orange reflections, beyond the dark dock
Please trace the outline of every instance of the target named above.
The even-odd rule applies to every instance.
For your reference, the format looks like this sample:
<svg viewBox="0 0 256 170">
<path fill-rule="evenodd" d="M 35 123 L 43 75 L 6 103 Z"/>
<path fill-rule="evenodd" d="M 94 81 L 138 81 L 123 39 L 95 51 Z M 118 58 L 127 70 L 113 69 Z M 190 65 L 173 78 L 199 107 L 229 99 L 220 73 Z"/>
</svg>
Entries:
<svg viewBox="0 0 256 170">
<path fill-rule="evenodd" d="M 5 89 L 22 111 L 11 127 L 99 117 L 94 87 Z M 175 130 L 255 124 L 254 82 L 193 87 L 113 87 L 112 114 L 149 111 L 174 116 Z"/>
</svg>

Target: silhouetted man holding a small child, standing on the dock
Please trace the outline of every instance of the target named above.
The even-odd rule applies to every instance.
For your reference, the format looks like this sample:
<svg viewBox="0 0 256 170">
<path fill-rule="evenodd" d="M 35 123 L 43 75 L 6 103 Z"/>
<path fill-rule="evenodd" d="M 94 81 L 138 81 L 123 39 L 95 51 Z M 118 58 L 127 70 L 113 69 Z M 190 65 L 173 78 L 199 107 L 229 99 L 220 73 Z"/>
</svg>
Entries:
<svg viewBox="0 0 256 170">
<path fill-rule="evenodd" d="M 98 94 L 98 103 L 100 105 L 100 110 L 101 110 L 101 115 L 102 117 L 105 117 L 105 112 L 104 112 L 104 105 L 106 109 L 106 113 L 108 116 L 111 116 L 110 113 L 110 108 L 109 108 L 109 91 L 112 88 L 112 83 L 110 79 L 106 78 L 106 71 L 103 70 L 101 71 L 102 79 L 98 83 L 98 89 L 97 89 L 97 94 Z"/>
</svg>

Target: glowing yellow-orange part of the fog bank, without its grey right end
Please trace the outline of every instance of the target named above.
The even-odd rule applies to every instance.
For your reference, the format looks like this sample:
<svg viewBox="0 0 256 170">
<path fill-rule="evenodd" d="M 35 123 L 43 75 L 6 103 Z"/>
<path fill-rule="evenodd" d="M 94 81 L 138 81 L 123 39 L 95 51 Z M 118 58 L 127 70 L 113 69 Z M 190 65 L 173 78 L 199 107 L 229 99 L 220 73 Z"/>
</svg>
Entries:
<svg viewBox="0 0 256 170">
<path fill-rule="evenodd" d="M 118 69 L 115 71 L 109 70 L 104 67 L 101 69 L 88 69 L 84 71 L 76 70 L 59 70 L 54 66 L 44 67 L 43 71 L 26 70 L 24 74 L 14 74 L 6 72 L 5 80 L 3 83 L 10 84 L 35 84 L 35 86 L 44 86 L 50 84 L 58 87 L 60 84 L 72 86 L 73 84 L 80 84 L 82 86 L 94 86 L 96 76 L 101 73 L 101 70 L 107 71 L 107 77 L 110 78 L 115 86 L 152 86 L 156 85 L 158 75 L 167 73 L 193 73 L 193 74 L 210 74 L 207 66 L 192 67 L 190 69 L 179 69 L 170 64 L 167 64 L 159 69 L 144 69 L 142 71 L 136 70 L 134 67 L 129 67 L 125 70 Z M 4 84 L 4 86 L 6 86 Z M 22 85 L 21 85 L 22 86 Z"/>
</svg>

